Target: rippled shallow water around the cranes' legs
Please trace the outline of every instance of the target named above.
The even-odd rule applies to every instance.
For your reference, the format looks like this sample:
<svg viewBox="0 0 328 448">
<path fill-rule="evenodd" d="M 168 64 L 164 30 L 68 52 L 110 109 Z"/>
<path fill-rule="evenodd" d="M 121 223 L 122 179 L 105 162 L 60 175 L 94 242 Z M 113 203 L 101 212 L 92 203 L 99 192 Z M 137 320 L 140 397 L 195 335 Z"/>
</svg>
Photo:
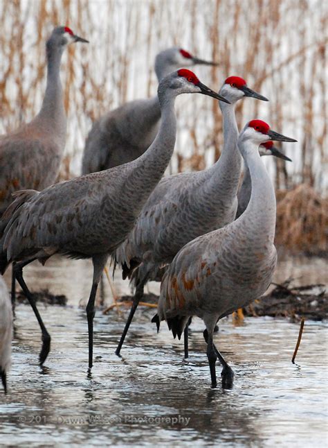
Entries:
<svg viewBox="0 0 328 448">
<path fill-rule="evenodd" d="M 321 261 L 307 268 L 283 263 L 277 281 L 293 275 L 303 284 L 322 282 Z M 90 262 L 54 258 L 44 268 L 28 266 L 26 282 L 32 291 L 48 287 L 69 301 L 66 307 L 39 304 L 52 335 L 44 368 L 37 364 L 40 332 L 33 312 L 17 305 L 8 395 L 0 390 L 1 447 L 327 446 L 324 322 L 306 322 L 293 365 L 298 324 L 246 318 L 235 326 L 231 318 L 222 320 L 215 341 L 235 371 L 235 383 L 233 390 L 212 390 L 201 320 L 192 322 L 190 358 L 184 361 L 182 341 L 174 341 L 165 325 L 156 334 L 149 322 L 154 309 L 140 308 L 120 359 L 114 350 L 127 309 L 107 316 L 98 310 L 95 362 L 88 375 L 81 305 L 91 286 Z M 129 292 L 119 273 L 116 285 L 120 293 Z M 158 291 L 157 285 L 151 288 Z M 217 365 L 218 378 L 220 371 Z"/>
</svg>

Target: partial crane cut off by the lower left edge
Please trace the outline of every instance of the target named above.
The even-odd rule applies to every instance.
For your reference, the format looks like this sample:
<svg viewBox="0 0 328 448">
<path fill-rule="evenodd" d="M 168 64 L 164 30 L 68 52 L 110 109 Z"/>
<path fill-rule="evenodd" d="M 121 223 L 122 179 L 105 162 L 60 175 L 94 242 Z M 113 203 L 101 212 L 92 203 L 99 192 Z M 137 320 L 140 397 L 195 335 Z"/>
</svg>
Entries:
<svg viewBox="0 0 328 448">
<path fill-rule="evenodd" d="M 0 377 L 7 393 L 7 373 L 11 364 L 12 307 L 8 289 L 0 277 Z"/>
</svg>

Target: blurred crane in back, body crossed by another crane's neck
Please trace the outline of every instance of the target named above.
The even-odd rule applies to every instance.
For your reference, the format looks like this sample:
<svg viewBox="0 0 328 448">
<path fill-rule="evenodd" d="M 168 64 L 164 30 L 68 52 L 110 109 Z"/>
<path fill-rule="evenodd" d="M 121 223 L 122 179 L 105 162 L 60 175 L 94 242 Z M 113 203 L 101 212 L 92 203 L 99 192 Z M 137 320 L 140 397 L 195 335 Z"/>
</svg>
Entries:
<svg viewBox="0 0 328 448">
<path fill-rule="evenodd" d="M 188 51 L 172 47 L 156 55 L 158 83 L 179 67 L 196 64 L 216 65 L 195 58 Z M 82 158 L 82 174 L 95 173 L 135 160 L 152 144 L 161 119 L 157 95 L 130 101 L 111 110 L 93 123 L 86 139 Z"/>
</svg>

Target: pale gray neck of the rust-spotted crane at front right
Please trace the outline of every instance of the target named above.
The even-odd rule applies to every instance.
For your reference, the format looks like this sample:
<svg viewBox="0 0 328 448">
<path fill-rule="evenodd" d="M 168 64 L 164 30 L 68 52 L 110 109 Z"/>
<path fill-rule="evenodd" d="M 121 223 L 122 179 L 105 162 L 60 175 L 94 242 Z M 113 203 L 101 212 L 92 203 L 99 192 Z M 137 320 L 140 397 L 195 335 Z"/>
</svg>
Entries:
<svg viewBox="0 0 328 448">
<path fill-rule="evenodd" d="M 258 145 L 246 141 L 239 143 L 245 164 L 250 171 L 252 192 L 248 207 L 242 214 L 240 222 L 246 229 L 273 243 L 275 236 L 275 190 L 266 168 L 261 161 Z"/>
</svg>

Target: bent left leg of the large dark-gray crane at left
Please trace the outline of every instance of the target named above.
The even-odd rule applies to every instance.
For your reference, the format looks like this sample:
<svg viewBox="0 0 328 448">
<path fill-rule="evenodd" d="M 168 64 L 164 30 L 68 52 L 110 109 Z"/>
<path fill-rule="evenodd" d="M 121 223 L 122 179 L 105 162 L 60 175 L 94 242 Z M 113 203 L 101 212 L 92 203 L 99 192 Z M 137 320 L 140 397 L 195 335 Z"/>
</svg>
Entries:
<svg viewBox="0 0 328 448">
<path fill-rule="evenodd" d="M 42 349 L 39 354 L 39 363 L 40 363 L 40 365 L 42 365 L 44 363 L 44 361 L 46 361 L 46 357 L 48 356 L 48 353 L 50 352 L 51 336 L 50 336 L 50 334 L 48 334 L 48 331 L 47 331 L 46 327 L 44 326 L 44 322 L 42 321 L 42 318 L 39 314 L 39 310 L 37 309 L 33 295 L 30 293 L 28 287 L 26 286 L 24 278 L 23 278 L 24 266 L 26 266 L 27 264 L 31 263 L 34 260 L 35 259 L 23 261 L 21 263 L 16 263 L 12 267 L 14 269 L 17 282 L 19 283 L 19 285 L 21 286 L 21 289 L 23 290 L 24 294 L 26 295 L 26 298 L 35 313 L 35 317 L 37 318 L 37 322 L 39 322 L 39 326 L 42 331 Z"/>
</svg>

